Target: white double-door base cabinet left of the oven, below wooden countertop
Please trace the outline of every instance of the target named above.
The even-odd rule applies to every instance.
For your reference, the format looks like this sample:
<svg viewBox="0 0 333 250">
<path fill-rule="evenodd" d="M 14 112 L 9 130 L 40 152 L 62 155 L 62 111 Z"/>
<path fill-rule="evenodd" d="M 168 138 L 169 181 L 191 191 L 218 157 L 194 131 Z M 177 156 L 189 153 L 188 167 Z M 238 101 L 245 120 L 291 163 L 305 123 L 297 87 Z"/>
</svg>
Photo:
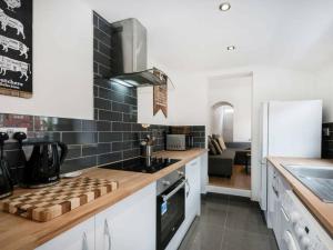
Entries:
<svg viewBox="0 0 333 250">
<path fill-rule="evenodd" d="M 153 182 L 36 250 L 154 250 L 155 209 Z"/>
</svg>

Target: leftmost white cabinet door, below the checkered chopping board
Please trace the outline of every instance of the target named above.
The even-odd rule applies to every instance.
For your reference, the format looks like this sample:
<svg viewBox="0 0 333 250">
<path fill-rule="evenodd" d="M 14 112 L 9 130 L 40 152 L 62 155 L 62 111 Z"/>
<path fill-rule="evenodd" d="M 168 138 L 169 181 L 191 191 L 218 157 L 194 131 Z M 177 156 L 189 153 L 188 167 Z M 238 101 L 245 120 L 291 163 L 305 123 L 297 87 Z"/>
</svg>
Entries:
<svg viewBox="0 0 333 250">
<path fill-rule="evenodd" d="M 94 218 L 61 233 L 36 250 L 94 250 Z"/>
</svg>

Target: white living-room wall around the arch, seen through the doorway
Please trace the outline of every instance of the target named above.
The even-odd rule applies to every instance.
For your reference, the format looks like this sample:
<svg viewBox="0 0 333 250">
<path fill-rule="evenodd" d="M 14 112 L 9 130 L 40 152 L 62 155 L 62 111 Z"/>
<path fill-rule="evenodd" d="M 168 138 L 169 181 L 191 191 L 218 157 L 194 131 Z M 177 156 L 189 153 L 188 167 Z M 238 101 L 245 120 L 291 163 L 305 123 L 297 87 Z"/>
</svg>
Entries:
<svg viewBox="0 0 333 250">
<path fill-rule="evenodd" d="M 233 141 L 251 140 L 252 76 L 209 79 L 209 106 L 226 101 L 234 108 Z M 212 110 L 210 110 L 213 116 Z M 212 119 L 210 119 L 212 120 Z M 210 132 L 212 133 L 212 131 Z"/>
</svg>

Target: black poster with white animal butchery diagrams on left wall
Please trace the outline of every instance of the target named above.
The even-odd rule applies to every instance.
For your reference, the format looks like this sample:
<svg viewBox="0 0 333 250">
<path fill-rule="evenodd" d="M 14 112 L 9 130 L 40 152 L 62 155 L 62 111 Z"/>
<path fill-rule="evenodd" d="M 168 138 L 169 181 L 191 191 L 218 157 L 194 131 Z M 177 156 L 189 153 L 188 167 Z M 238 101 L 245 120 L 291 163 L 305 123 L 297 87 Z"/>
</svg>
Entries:
<svg viewBox="0 0 333 250">
<path fill-rule="evenodd" d="M 0 0 L 0 93 L 32 97 L 32 0 Z"/>
</svg>

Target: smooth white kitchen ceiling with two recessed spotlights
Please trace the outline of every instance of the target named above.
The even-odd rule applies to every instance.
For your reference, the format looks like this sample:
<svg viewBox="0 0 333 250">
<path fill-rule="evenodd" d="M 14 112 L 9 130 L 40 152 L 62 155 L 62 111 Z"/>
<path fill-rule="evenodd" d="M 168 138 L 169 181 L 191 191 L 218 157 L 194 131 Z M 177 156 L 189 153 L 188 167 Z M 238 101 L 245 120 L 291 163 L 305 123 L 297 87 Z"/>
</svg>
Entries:
<svg viewBox="0 0 333 250">
<path fill-rule="evenodd" d="M 139 19 L 149 57 L 176 70 L 251 64 L 316 70 L 333 62 L 332 0 L 85 0 L 109 21 Z M 228 46 L 235 51 L 226 51 Z"/>
</svg>

